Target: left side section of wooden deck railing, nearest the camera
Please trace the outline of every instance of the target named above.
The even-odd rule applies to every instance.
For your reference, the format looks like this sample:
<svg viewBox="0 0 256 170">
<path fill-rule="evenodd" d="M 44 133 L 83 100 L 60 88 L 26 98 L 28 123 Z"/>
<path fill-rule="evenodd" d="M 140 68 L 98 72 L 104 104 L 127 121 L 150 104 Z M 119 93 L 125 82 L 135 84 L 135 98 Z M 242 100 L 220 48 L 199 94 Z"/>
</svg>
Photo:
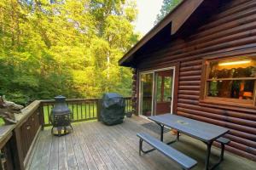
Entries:
<svg viewBox="0 0 256 170">
<path fill-rule="evenodd" d="M 42 127 L 40 101 L 15 116 L 17 123 L 0 127 L 0 169 L 25 169 Z"/>
</svg>

